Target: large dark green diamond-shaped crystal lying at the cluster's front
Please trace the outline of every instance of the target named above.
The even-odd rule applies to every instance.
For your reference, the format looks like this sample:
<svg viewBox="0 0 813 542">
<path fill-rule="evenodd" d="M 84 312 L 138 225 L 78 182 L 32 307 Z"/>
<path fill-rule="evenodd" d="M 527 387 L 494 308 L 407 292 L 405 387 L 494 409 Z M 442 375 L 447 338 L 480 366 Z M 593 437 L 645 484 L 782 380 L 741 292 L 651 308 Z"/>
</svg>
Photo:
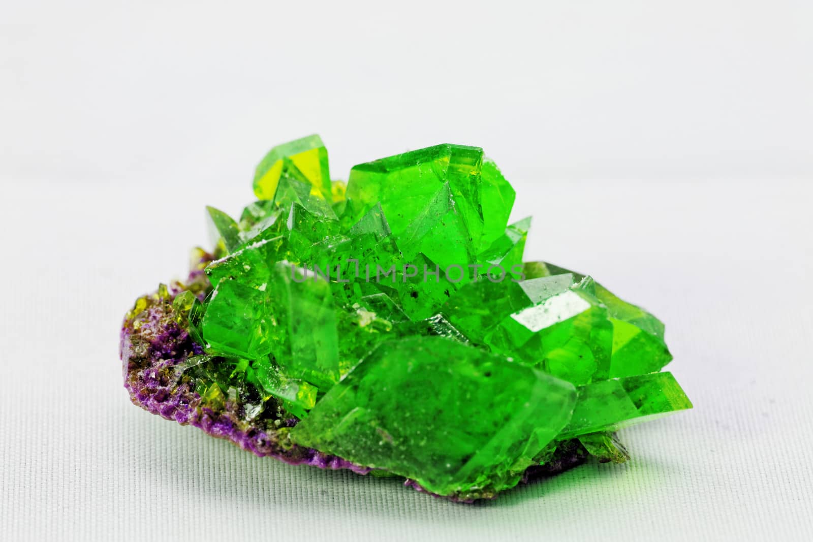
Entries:
<svg viewBox="0 0 813 542">
<path fill-rule="evenodd" d="M 442 337 L 380 345 L 291 431 L 442 495 L 518 483 L 570 419 L 571 384 Z"/>
</svg>

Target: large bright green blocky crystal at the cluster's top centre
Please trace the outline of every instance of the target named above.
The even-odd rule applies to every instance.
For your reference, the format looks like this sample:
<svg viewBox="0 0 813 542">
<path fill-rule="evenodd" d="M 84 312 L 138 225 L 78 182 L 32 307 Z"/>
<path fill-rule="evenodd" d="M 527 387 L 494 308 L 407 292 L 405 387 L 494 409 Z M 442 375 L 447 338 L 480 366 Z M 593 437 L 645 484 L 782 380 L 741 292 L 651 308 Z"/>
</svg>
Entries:
<svg viewBox="0 0 813 542">
<path fill-rule="evenodd" d="M 482 149 L 437 145 L 353 167 L 347 197 L 355 216 L 380 205 L 407 259 L 446 269 L 476 262 L 502 235 L 513 190 L 492 164 L 484 174 Z"/>
</svg>

